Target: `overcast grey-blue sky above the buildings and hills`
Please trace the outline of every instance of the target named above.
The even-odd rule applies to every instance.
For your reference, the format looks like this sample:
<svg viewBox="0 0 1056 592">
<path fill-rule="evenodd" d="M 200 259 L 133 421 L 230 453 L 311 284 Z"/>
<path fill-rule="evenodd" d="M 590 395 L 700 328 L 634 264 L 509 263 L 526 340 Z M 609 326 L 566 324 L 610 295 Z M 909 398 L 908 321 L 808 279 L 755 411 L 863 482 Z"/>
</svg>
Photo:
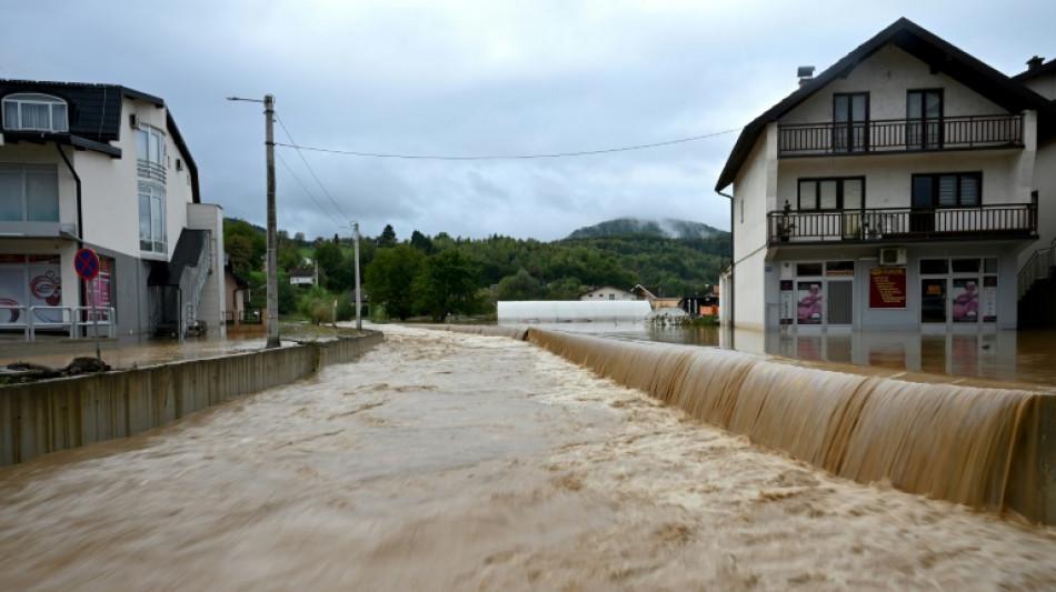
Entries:
<svg viewBox="0 0 1056 592">
<path fill-rule="evenodd" d="M 554 240 L 620 217 L 729 228 L 737 132 L 907 17 L 1006 74 L 1056 56 L 1052 0 L 50 0 L 3 10 L 0 78 L 165 99 L 202 201 L 265 223 L 261 107 L 302 147 L 559 159 L 406 160 L 277 149 L 279 228 Z M 280 124 L 276 141 L 295 143 Z M 311 170 L 306 167 L 306 162 Z M 285 163 L 285 164 L 283 164 Z M 320 184 L 312 172 L 318 175 Z M 307 190 L 305 189 L 307 188 Z"/>
</svg>

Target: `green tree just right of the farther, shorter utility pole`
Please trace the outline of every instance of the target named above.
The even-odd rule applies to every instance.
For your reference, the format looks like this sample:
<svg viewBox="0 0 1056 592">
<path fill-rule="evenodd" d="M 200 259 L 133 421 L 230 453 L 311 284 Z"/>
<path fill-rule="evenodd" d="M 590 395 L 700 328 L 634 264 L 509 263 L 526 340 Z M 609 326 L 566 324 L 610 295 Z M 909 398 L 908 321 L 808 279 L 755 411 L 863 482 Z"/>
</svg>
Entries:
<svg viewBox="0 0 1056 592">
<path fill-rule="evenodd" d="M 381 304 L 390 317 L 404 321 L 415 313 L 415 279 L 425 255 L 408 245 L 379 249 L 367 265 L 366 290 L 372 304 Z"/>
</svg>

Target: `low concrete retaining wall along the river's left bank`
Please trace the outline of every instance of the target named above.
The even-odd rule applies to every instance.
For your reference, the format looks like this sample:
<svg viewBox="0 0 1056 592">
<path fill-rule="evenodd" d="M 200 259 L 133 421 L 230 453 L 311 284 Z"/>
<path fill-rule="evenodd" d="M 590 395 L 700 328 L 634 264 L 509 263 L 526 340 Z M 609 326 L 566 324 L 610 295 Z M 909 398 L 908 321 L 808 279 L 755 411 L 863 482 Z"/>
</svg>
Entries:
<svg viewBox="0 0 1056 592">
<path fill-rule="evenodd" d="M 355 360 L 382 334 L 0 388 L 0 465 L 123 438 Z"/>
</svg>

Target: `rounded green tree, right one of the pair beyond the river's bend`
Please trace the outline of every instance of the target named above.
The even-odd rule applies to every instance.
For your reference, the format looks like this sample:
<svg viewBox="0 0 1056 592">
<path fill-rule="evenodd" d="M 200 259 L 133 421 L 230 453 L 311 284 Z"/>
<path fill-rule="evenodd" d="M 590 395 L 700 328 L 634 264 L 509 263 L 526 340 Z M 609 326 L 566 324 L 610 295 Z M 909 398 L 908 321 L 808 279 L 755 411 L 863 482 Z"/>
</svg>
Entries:
<svg viewBox="0 0 1056 592">
<path fill-rule="evenodd" d="M 437 322 L 451 313 L 471 313 L 477 308 L 479 278 L 479 268 L 458 249 L 426 259 L 415 281 L 421 310 Z"/>
</svg>

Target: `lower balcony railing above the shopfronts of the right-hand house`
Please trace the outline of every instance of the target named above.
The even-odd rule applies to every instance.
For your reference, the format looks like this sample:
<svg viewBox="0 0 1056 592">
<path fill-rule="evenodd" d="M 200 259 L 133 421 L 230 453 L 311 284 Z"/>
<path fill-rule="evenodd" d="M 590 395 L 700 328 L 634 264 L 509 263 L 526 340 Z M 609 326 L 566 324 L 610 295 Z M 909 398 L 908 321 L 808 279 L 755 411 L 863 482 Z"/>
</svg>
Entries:
<svg viewBox="0 0 1056 592">
<path fill-rule="evenodd" d="M 888 242 L 926 239 L 994 240 L 1037 237 L 1037 204 L 977 208 L 876 208 L 767 214 L 767 242 Z"/>
</svg>

